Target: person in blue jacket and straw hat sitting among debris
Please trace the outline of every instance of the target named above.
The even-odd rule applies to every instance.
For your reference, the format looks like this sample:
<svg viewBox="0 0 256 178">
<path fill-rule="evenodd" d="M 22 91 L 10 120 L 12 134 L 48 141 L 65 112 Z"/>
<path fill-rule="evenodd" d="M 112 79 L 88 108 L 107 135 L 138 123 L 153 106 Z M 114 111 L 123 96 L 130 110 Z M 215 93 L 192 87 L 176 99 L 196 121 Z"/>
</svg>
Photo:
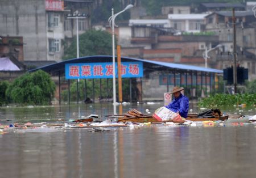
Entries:
<svg viewBox="0 0 256 178">
<path fill-rule="evenodd" d="M 170 92 L 170 94 L 174 94 L 174 99 L 165 107 L 170 109 L 172 112 L 179 113 L 181 117 L 187 118 L 189 101 L 186 96 L 180 93 L 182 90 L 184 90 L 183 87 L 174 87 L 172 92 Z"/>
</svg>

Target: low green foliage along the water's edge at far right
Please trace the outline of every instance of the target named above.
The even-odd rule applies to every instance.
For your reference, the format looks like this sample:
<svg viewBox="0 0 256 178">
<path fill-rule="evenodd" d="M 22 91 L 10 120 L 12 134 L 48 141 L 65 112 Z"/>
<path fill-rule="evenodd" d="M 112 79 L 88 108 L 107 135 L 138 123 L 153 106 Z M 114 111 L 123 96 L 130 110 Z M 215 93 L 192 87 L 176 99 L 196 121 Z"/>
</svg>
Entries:
<svg viewBox="0 0 256 178">
<path fill-rule="evenodd" d="M 220 107 L 220 106 L 233 106 L 246 104 L 252 106 L 256 104 L 256 94 L 216 94 L 211 95 L 208 98 L 199 100 L 200 107 Z"/>
</svg>

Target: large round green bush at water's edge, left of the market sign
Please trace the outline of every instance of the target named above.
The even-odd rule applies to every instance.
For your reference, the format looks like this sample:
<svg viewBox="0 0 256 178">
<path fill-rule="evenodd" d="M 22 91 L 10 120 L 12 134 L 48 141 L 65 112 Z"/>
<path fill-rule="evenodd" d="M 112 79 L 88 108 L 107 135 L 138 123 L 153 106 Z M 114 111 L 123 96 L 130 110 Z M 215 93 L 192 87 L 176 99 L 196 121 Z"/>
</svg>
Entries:
<svg viewBox="0 0 256 178">
<path fill-rule="evenodd" d="M 42 70 L 26 73 L 16 78 L 6 95 L 18 104 L 48 104 L 55 92 L 55 83 L 51 76 Z"/>
</svg>

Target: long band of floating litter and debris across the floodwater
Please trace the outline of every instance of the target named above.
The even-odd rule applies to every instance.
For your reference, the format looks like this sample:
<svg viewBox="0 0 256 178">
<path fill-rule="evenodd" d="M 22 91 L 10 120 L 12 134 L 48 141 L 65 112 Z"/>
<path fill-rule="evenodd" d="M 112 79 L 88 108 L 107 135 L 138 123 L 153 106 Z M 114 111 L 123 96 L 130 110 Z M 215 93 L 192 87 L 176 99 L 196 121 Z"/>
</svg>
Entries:
<svg viewBox="0 0 256 178">
<path fill-rule="evenodd" d="M 77 121 L 77 120 L 76 120 Z M 15 133 L 30 133 L 30 132 L 40 132 L 40 133 L 49 133 L 57 132 L 60 130 L 68 129 L 88 129 L 88 132 L 102 132 L 109 130 L 117 130 L 117 128 L 129 128 L 129 129 L 139 129 L 143 127 L 151 126 L 168 126 L 168 127 L 177 127 L 177 126 L 197 126 L 197 127 L 217 127 L 217 126 L 254 126 L 256 128 L 256 117 L 247 117 L 247 118 L 238 118 L 238 119 L 229 119 L 226 121 L 203 121 L 203 122 L 193 122 L 185 121 L 182 124 L 174 122 L 165 122 L 165 123 L 136 123 L 136 122 L 116 122 L 110 119 L 105 121 L 92 121 L 92 122 L 74 122 L 70 120 L 69 122 L 40 122 L 40 123 L 31 123 L 27 122 L 26 124 L 0 124 L 0 135 L 15 132 Z M 113 129 L 115 128 L 115 129 Z"/>
</svg>

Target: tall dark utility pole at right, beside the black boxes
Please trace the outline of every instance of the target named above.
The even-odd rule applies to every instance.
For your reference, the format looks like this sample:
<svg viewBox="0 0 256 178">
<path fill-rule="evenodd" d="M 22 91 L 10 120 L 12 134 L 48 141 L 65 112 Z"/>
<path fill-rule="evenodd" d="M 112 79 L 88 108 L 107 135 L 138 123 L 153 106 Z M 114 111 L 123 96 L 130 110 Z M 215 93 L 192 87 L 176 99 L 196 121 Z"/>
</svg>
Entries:
<svg viewBox="0 0 256 178">
<path fill-rule="evenodd" d="M 236 39 L 236 17 L 235 10 L 233 8 L 233 55 L 234 55 L 234 67 L 233 67 L 233 79 L 234 79 L 234 94 L 237 93 L 237 39 Z"/>
</svg>

